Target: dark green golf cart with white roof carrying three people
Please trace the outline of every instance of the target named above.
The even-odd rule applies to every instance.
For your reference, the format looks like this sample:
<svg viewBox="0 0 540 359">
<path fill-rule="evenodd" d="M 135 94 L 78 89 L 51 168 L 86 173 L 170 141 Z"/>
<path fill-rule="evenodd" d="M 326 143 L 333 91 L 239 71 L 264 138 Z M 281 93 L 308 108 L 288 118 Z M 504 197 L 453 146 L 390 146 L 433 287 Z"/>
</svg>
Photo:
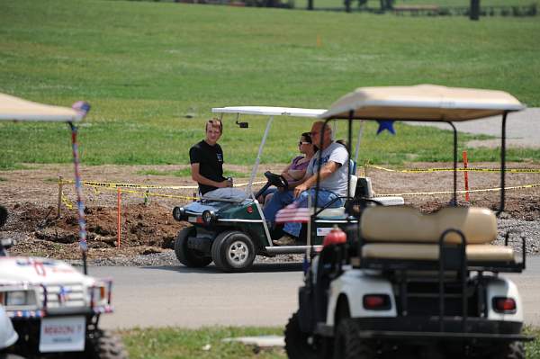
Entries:
<svg viewBox="0 0 540 359">
<path fill-rule="evenodd" d="M 213 108 L 212 112 L 236 114 L 240 127 L 247 127 L 247 122 L 238 122 L 240 115 L 269 116 L 266 122 L 266 130 L 258 148 L 257 158 L 249 183 L 247 184 L 247 199 L 243 201 L 231 201 L 225 199 L 207 199 L 202 197 L 200 201 L 192 202 L 183 207 L 175 207 L 173 217 L 175 220 L 187 221 L 192 226 L 180 231 L 175 239 L 175 254 L 180 263 L 189 267 L 202 267 L 214 264 L 224 272 L 247 271 L 253 264 L 255 256 L 275 256 L 278 254 L 304 253 L 306 247 L 314 246 L 321 248 L 324 236 L 336 224 L 347 224 L 345 208 L 318 209 L 313 217 L 311 229 L 305 226 L 301 233 L 301 240 L 305 246 L 275 246 L 273 239 L 283 235 L 281 228 L 269 228 L 261 204 L 257 201 L 258 196 L 270 185 L 278 188 L 287 187 L 286 180 L 280 175 L 266 172 L 266 184 L 256 193 L 253 192 L 253 184 L 260 163 L 261 154 L 266 143 L 272 121 L 276 116 L 291 116 L 309 118 L 311 121 L 317 118 L 325 110 L 284 108 L 284 107 L 223 107 Z M 306 128 L 311 122 L 306 123 Z M 350 139 L 349 139 L 349 142 Z M 356 157 L 360 137 L 356 145 Z M 354 163 L 350 166 L 350 188 L 347 200 L 358 201 L 359 198 L 372 198 L 373 190 L 371 181 L 367 177 L 356 177 Z M 379 197 L 377 201 L 385 205 L 403 204 L 401 197 Z M 308 234 L 313 234 L 308 235 Z"/>
</svg>

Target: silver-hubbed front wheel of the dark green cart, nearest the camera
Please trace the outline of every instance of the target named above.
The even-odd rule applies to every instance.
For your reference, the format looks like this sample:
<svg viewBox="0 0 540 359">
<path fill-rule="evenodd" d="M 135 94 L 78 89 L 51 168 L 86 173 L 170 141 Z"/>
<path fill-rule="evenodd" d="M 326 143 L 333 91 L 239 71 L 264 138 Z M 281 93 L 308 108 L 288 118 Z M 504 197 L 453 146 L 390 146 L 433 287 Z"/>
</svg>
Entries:
<svg viewBox="0 0 540 359">
<path fill-rule="evenodd" d="M 211 258 L 223 272 L 245 272 L 255 260 L 255 246 L 245 233 L 227 230 L 214 239 Z"/>
</svg>

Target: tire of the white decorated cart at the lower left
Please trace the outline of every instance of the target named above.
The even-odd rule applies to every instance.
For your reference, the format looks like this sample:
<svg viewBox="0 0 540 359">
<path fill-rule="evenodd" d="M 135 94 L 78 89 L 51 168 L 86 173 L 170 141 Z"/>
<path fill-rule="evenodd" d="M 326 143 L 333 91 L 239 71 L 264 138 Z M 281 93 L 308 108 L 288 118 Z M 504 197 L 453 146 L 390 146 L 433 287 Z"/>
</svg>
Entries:
<svg viewBox="0 0 540 359">
<path fill-rule="evenodd" d="M 95 330 L 86 340 L 85 359 L 127 359 L 120 337 L 107 330 Z"/>
</svg>

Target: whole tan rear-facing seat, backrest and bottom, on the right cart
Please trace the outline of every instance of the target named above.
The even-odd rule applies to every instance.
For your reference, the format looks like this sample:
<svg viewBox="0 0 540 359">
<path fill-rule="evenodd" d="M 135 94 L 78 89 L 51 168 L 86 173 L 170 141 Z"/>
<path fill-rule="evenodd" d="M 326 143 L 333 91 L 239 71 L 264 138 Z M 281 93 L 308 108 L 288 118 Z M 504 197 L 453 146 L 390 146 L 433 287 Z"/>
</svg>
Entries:
<svg viewBox="0 0 540 359">
<path fill-rule="evenodd" d="M 360 232 L 357 263 L 362 266 L 433 269 L 439 265 L 441 250 L 445 261 L 458 263 L 463 256 L 461 232 L 470 270 L 517 272 L 522 268 L 512 247 L 490 244 L 497 238 L 497 219 L 485 208 L 448 207 L 422 214 L 411 207 L 371 207 L 362 215 Z M 439 244 L 441 236 L 445 236 L 444 246 Z"/>
</svg>

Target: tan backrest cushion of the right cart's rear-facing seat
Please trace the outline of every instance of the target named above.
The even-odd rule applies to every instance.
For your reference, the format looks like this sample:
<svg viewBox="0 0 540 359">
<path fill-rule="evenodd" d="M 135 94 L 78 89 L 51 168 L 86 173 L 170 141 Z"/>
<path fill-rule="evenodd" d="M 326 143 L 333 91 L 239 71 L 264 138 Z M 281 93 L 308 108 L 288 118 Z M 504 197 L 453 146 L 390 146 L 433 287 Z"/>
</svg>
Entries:
<svg viewBox="0 0 540 359">
<path fill-rule="evenodd" d="M 446 207 L 423 214 L 412 207 L 376 206 L 365 209 L 361 219 L 366 242 L 437 242 L 446 229 L 464 233 L 467 244 L 489 243 L 497 238 L 497 219 L 487 208 Z M 460 243 L 456 233 L 446 242 Z"/>
</svg>

